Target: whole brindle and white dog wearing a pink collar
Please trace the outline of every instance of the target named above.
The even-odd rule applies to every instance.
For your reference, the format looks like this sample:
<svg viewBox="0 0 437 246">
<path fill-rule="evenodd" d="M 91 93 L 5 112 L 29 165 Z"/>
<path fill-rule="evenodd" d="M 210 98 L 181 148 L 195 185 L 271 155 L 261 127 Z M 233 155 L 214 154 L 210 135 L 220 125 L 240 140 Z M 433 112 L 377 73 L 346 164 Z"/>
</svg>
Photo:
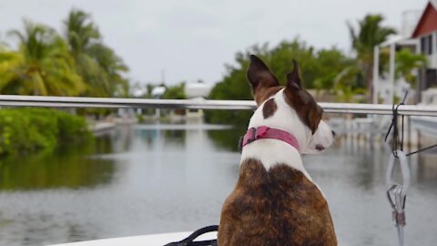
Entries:
<svg viewBox="0 0 437 246">
<path fill-rule="evenodd" d="M 259 106 L 249 129 L 257 136 L 259 128 L 260 135 L 273 129 L 272 137 L 252 138 L 242 149 L 239 181 L 221 211 L 219 246 L 337 245 L 328 203 L 301 159 L 329 147 L 335 133 L 302 87 L 296 62 L 280 87 L 250 56 L 248 79 Z"/>
</svg>

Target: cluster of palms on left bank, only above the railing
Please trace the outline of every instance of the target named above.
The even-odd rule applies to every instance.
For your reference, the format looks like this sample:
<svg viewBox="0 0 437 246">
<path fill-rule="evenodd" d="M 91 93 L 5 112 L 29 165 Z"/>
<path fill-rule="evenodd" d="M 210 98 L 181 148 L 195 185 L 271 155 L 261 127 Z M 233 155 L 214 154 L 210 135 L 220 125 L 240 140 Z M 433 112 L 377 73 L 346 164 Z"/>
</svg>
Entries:
<svg viewBox="0 0 437 246">
<path fill-rule="evenodd" d="M 32 96 L 126 97 L 128 68 L 103 43 L 89 15 L 73 9 L 61 36 L 24 21 L 8 32 L 17 49 L 0 48 L 0 93 Z"/>
</svg>

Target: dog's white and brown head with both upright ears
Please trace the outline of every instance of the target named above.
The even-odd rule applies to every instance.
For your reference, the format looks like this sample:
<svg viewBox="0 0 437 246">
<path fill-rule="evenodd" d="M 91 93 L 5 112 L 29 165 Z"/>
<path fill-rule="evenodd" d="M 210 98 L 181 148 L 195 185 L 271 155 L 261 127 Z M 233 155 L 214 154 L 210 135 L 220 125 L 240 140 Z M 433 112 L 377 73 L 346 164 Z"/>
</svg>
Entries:
<svg viewBox="0 0 437 246">
<path fill-rule="evenodd" d="M 300 152 L 319 153 L 328 148 L 335 133 L 321 120 L 323 110 L 301 84 L 298 63 L 287 75 L 287 86 L 257 56 L 250 56 L 248 80 L 258 108 L 249 128 L 267 126 L 286 130 L 298 139 Z"/>
</svg>

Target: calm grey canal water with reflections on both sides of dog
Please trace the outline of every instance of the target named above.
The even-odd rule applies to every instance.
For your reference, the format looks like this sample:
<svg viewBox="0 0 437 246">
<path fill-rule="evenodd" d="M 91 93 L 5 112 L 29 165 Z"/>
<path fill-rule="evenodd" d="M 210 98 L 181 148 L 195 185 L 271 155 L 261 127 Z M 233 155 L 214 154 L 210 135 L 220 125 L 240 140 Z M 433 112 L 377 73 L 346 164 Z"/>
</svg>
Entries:
<svg viewBox="0 0 437 246">
<path fill-rule="evenodd" d="M 0 160 L 0 245 L 46 245 L 219 223 L 238 179 L 236 130 L 118 127 L 95 141 Z M 340 245 L 397 245 L 385 194 L 389 150 L 339 138 L 306 168 L 330 203 Z M 410 159 L 406 245 L 437 241 L 437 155 Z"/>
</svg>

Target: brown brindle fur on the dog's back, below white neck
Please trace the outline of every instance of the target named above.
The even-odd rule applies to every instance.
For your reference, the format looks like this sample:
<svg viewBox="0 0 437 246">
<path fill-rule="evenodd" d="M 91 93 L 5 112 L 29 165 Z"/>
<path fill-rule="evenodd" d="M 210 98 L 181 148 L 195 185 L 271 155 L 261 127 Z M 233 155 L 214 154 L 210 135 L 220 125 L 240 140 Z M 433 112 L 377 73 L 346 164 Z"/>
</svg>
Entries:
<svg viewBox="0 0 437 246">
<path fill-rule="evenodd" d="M 328 204 L 299 170 L 248 159 L 225 201 L 219 245 L 337 245 Z"/>
</svg>

